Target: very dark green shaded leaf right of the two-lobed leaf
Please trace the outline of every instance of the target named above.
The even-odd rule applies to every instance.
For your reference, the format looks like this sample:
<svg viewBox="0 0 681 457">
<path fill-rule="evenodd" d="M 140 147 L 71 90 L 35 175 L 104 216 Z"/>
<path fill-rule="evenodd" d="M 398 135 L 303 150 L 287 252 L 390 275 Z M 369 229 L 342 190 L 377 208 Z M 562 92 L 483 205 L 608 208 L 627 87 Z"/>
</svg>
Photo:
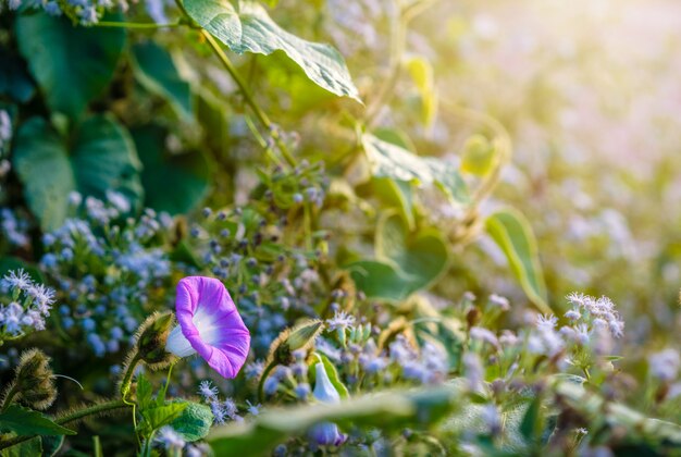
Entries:
<svg viewBox="0 0 681 457">
<path fill-rule="evenodd" d="M 171 156 L 165 152 L 163 128 L 148 125 L 133 132 L 139 158 L 144 164 L 141 183 L 145 205 L 171 214 L 196 208 L 207 197 L 210 170 L 201 152 L 189 151 Z"/>
</svg>

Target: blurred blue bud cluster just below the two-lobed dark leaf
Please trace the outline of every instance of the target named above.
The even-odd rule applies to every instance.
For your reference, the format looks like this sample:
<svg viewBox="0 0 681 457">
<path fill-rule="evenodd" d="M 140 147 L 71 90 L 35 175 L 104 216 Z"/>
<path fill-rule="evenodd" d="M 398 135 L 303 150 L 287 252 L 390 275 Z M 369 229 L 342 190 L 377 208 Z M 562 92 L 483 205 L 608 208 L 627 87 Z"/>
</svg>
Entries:
<svg viewBox="0 0 681 457">
<path fill-rule="evenodd" d="M 171 228 L 166 214 L 147 209 L 138 221 L 122 220 L 129 203 L 109 193 L 102 201 L 70 197 L 74 212 L 44 235 L 42 270 L 59 284 L 59 320 L 98 356 L 127 345 L 148 314 L 149 294 L 164 284 L 171 263 L 161 247 Z M 87 265 L 83 272 L 82 265 Z"/>
</svg>

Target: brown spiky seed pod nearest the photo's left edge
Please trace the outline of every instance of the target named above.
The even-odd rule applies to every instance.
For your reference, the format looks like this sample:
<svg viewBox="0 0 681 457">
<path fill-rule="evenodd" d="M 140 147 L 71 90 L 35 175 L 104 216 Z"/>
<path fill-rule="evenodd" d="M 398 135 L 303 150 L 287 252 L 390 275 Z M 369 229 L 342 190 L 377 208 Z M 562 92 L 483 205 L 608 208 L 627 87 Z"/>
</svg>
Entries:
<svg viewBox="0 0 681 457">
<path fill-rule="evenodd" d="M 33 409 L 49 408 L 57 398 L 50 358 L 39 349 L 24 351 L 16 367 L 14 386 L 16 400 Z"/>
</svg>

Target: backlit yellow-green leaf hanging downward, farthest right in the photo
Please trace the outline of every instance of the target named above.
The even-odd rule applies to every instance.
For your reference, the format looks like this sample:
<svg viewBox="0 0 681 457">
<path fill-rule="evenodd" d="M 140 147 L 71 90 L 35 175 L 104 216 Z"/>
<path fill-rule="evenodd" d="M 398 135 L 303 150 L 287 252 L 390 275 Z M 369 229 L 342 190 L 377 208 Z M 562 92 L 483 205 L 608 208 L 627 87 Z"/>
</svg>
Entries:
<svg viewBox="0 0 681 457">
<path fill-rule="evenodd" d="M 485 227 L 492 239 L 506 255 L 528 298 L 540 311 L 552 313 L 547 305 L 546 285 L 540 264 L 536 239 L 527 218 L 517 210 L 505 209 L 490 215 L 485 221 Z"/>
</svg>

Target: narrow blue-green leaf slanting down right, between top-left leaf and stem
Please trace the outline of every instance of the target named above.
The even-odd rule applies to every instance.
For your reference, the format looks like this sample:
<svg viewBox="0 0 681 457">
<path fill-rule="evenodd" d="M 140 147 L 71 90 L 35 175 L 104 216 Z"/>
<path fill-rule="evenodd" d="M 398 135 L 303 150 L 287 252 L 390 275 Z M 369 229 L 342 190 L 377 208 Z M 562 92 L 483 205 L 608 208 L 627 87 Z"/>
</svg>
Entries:
<svg viewBox="0 0 681 457">
<path fill-rule="evenodd" d="M 177 72 L 172 55 L 153 41 L 139 42 L 132 51 L 133 69 L 139 83 L 168 100 L 184 121 L 191 121 L 191 87 Z"/>
</svg>

